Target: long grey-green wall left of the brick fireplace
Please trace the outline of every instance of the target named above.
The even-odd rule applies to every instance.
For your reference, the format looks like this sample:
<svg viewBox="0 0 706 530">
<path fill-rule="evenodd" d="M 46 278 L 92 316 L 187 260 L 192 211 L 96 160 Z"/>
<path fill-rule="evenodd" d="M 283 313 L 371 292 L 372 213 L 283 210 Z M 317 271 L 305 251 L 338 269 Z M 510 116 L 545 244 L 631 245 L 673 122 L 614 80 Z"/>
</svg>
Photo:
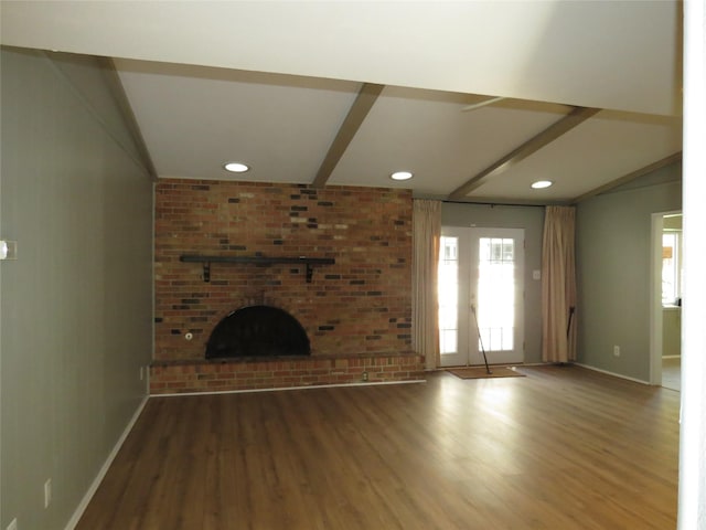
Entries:
<svg viewBox="0 0 706 530">
<path fill-rule="evenodd" d="M 1 53 L 0 528 L 63 529 L 147 394 L 152 184 L 93 59 Z"/>
</svg>

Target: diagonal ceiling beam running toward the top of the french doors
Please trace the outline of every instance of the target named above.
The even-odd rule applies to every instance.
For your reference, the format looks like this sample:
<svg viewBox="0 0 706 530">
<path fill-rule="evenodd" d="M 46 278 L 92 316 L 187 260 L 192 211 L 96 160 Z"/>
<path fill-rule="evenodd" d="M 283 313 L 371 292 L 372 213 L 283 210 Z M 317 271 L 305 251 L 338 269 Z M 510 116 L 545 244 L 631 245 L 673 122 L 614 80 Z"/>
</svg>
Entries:
<svg viewBox="0 0 706 530">
<path fill-rule="evenodd" d="M 582 124 L 588 118 L 599 113 L 600 108 L 574 107 L 574 109 L 561 119 L 552 124 L 542 132 L 525 141 L 522 146 L 509 152 L 503 158 L 485 168 L 480 173 L 471 177 L 462 186 L 451 192 L 449 199 L 459 200 L 469 194 L 472 190 L 480 188 L 488 179 L 495 177 L 525 158 L 537 152 L 544 146 L 553 142 L 560 136 L 565 135 L 574 127 Z"/>
</svg>

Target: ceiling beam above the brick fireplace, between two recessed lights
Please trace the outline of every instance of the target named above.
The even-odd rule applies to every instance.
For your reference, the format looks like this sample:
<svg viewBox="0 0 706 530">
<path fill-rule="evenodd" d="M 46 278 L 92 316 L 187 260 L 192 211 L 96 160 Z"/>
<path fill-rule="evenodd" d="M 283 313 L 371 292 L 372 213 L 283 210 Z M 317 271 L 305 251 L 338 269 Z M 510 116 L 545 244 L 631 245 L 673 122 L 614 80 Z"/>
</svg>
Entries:
<svg viewBox="0 0 706 530">
<path fill-rule="evenodd" d="M 357 129 L 361 128 L 361 125 L 363 125 L 367 113 L 375 104 L 377 96 L 379 96 L 384 87 L 385 85 L 376 85 L 374 83 L 363 84 L 361 91 L 357 93 L 355 102 L 351 105 L 349 114 L 343 120 L 343 124 L 341 124 L 339 132 L 331 142 L 329 152 L 327 152 L 323 162 L 321 162 L 321 166 L 319 167 L 317 177 L 313 179 L 311 184 L 313 188 L 323 188 L 325 186 L 331 173 L 347 149 L 349 144 L 351 144 L 351 140 L 357 132 Z"/>
</svg>

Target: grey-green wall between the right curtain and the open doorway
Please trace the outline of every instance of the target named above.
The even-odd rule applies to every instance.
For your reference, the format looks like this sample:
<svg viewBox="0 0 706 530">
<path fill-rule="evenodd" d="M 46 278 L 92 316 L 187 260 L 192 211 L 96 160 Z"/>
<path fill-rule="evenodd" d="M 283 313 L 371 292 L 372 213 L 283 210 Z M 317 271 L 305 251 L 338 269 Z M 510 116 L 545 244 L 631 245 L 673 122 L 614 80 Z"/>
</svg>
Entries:
<svg viewBox="0 0 706 530">
<path fill-rule="evenodd" d="M 650 381 L 652 214 L 682 209 L 681 176 L 672 165 L 577 206 L 578 362 Z"/>
</svg>

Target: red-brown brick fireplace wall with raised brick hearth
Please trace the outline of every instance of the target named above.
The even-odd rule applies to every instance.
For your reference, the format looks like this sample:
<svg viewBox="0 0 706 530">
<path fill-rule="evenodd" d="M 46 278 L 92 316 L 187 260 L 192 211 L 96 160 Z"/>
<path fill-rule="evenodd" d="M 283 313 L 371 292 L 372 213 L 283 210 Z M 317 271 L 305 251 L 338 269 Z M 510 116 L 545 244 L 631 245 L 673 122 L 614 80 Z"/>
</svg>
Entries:
<svg viewBox="0 0 706 530">
<path fill-rule="evenodd" d="M 424 370 L 410 347 L 406 190 L 160 179 L 154 297 L 154 394 L 410 380 Z M 310 356 L 206 359 L 213 329 L 249 306 L 291 315 Z"/>
</svg>

